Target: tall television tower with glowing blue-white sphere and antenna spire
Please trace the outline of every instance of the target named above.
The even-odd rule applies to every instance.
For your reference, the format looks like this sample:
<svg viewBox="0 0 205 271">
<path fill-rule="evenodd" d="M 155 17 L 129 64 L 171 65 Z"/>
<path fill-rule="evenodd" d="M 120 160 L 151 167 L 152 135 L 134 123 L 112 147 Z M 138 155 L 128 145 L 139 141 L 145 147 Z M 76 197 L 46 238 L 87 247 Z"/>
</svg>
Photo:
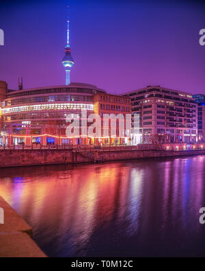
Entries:
<svg viewBox="0 0 205 271">
<path fill-rule="evenodd" d="M 64 56 L 62 63 L 66 68 L 66 85 L 70 84 L 70 68 L 74 64 L 73 58 L 70 54 L 70 40 L 69 40 L 69 6 L 68 6 L 68 27 L 67 27 L 67 44 L 65 47 L 66 55 Z"/>
</svg>

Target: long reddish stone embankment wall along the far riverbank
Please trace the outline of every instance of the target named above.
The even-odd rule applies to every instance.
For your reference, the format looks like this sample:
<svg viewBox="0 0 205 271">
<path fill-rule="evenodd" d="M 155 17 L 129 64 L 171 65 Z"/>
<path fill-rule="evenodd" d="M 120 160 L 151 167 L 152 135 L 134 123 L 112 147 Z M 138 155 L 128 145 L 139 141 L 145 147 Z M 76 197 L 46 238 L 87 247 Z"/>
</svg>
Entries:
<svg viewBox="0 0 205 271">
<path fill-rule="evenodd" d="M 156 146 L 155 146 L 156 147 Z M 0 167 L 26 165 L 55 165 L 72 163 L 100 163 L 139 158 L 204 155 L 205 149 L 184 148 L 75 148 L 0 150 Z"/>
</svg>

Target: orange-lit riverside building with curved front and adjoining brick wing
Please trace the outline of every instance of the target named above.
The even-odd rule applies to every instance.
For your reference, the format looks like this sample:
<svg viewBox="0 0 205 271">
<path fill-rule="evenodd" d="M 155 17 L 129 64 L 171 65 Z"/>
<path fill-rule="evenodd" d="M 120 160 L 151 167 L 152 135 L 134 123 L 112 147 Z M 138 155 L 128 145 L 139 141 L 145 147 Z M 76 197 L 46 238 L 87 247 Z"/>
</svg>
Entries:
<svg viewBox="0 0 205 271">
<path fill-rule="evenodd" d="M 81 110 L 118 115 L 131 113 L 131 99 L 107 94 L 91 84 L 71 83 L 68 86 L 47 86 L 36 89 L 10 90 L 0 82 L 1 144 L 25 143 L 62 144 L 120 144 L 126 143 L 109 135 L 99 138 L 66 136 L 66 116 L 76 114 L 81 126 Z M 87 128 L 89 127 L 89 123 Z M 110 124 L 109 124 L 110 129 Z M 102 122 L 103 130 L 103 122 Z"/>
</svg>

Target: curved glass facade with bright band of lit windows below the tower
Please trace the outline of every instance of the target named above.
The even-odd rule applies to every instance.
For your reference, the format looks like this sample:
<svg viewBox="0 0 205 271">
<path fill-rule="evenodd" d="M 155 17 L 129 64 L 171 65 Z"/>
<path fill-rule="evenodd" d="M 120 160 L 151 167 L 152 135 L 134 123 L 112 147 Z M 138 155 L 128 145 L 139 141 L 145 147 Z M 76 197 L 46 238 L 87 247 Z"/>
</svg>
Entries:
<svg viewBox="0 0 205 271">
<path fill-rule="evenodd" d="M 87 110 L 87 115 L 94 113 L 96 93 L 105 91 L 88 84 L 8 91 L 1 102 L 3 132 L 14 137 L 29 134 L 65 136 L 66 116 L 74 113 L 80 118 L 82 109 Z M 19 141 L 20 138 L 16 143 Z"/>
</svg>

